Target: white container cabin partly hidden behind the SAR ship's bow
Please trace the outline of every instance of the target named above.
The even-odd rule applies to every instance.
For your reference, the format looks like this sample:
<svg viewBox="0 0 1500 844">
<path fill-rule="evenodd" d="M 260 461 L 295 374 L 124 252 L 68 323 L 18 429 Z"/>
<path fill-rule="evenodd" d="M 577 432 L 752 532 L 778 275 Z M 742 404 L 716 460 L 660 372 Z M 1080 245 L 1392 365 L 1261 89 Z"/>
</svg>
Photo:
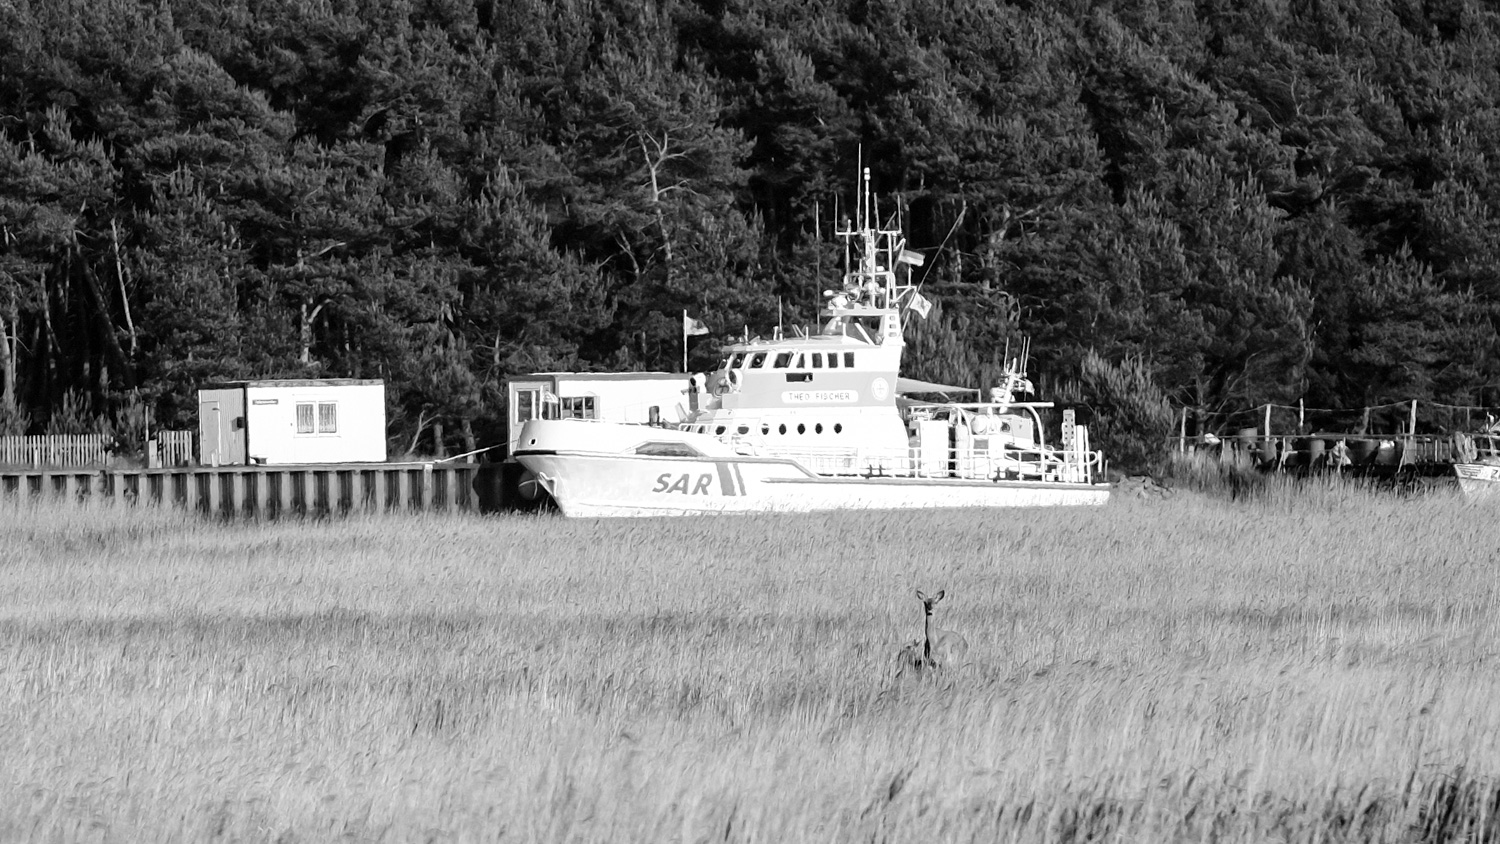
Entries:
<svg viewBox="0 0 1500 844">
<path fill-rule="evenodd" d="M 531 420 L 672 424 L 706 403 L 704 378 L 682 372 L 537 372 L 508 382 L 507 451 Z"/>
</svg>

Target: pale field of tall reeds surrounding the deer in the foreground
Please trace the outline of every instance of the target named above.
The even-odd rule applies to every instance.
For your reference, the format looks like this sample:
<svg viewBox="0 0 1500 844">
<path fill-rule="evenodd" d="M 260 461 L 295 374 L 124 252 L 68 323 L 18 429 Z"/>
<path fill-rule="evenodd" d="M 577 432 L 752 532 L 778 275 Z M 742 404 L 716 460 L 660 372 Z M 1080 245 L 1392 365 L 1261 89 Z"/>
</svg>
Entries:
<svg viewBox="0 0 1500 844">
<path fill-rule="evenodd" d="M 1500 840 L 1500 520 L 0 501 L 0 841 Z M 914 589 L 968 663 L 897 676 Z"/>
</svg>

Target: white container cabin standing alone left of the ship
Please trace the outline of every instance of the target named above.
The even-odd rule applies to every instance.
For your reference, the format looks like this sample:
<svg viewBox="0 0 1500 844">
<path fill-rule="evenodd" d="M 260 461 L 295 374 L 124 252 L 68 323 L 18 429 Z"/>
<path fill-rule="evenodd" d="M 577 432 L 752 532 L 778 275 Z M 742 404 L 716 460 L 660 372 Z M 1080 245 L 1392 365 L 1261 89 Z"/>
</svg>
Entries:
<svg viewBox="0 0 1500 844">
<path fill-rule="evenodd" d="M 382 463 L 386 382 L 231 381 L 198 390 L 204 466 Z"/>
</svg>

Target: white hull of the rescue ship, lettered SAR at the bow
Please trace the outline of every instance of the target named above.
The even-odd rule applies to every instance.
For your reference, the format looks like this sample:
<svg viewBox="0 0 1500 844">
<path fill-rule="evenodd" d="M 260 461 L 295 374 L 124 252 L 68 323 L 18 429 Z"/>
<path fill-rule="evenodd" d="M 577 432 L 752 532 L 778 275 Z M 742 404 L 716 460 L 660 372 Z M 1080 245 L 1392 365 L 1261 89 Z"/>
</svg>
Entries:
<svg viewBox="0 0 1500 844">
<path fill-rule="evenodd" d="M 520 453 L 566 516 L 688 516 L 976 507 L 1068 507 L 1108 501 L 1108 484 L 922 477 L 824 477 L 776 457 L 656 457 Z"/>
</svg>

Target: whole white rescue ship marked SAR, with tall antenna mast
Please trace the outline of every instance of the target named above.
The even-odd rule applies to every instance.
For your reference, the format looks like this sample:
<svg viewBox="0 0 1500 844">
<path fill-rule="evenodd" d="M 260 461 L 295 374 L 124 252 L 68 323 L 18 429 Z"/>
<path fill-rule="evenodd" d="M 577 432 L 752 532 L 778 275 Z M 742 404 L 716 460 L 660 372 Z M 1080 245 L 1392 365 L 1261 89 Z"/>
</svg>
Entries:
<svg viewBox="0 0 1500 844">
<path fill-rule="evenodd" d="M 903 319 L 932 304 L 910 283 L 922 256 L 873 222 L 867 184 L 868 169 L 838 232 L 855 258 L 814 333 L 726 346 L 706 382 L 684 378 L 690 397 L 710 391 L 676 424 L 526 421 L 513 457 L 528 481 L 567 516 L 1104 504 L 1072 411 L 1050 445 L 1038 411 L 1052 403 L 1017 400 L 1024 354 L 987 399 L 900 378 Z"/>
</svg>

